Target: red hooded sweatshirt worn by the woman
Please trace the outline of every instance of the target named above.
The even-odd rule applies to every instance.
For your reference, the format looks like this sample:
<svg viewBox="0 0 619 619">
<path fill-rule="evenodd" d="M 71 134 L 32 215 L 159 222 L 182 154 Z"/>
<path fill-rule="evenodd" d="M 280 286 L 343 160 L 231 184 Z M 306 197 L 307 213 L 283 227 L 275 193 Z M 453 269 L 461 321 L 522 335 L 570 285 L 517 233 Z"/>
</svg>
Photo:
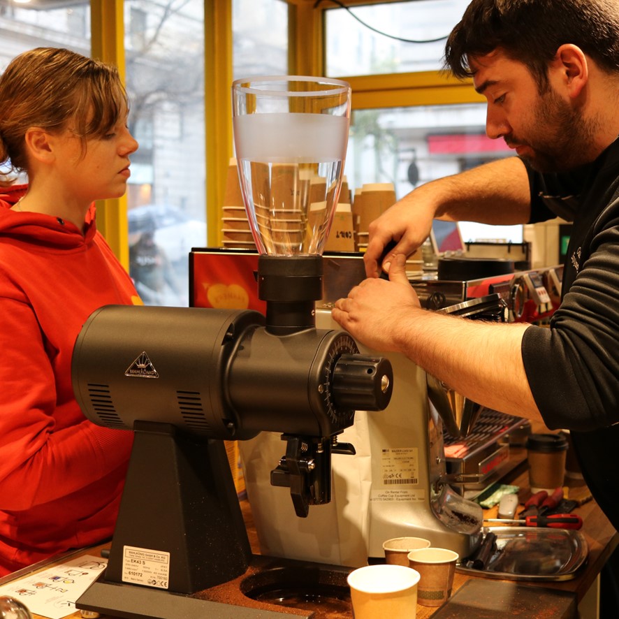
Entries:
<svg viewBox="0 0 619 619">
<path fill-rule="evenodd" d="M 10 210 L 0 189 L 0 576 L 111 537 L 133 432 L 87 421 L 71 355 L 102 305 L 141 305 L 99 232 Z"/>
</svg>

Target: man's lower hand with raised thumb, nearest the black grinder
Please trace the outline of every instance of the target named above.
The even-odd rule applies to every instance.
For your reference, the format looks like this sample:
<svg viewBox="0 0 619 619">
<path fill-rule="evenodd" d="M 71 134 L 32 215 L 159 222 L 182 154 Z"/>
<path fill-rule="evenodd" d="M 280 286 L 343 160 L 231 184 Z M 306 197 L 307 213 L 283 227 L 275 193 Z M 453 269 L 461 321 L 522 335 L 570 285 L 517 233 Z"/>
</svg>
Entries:
<svg viewBox="0 0 619 619">
<path fill-rule="evenodd" d="M 365 279 L 335 303 L 333 319 L 367 347 L 402 352 L 398 334 L 419 300 L 406 275 L 405 254 L 395 254 L 386 279 Z"/>
</svg>

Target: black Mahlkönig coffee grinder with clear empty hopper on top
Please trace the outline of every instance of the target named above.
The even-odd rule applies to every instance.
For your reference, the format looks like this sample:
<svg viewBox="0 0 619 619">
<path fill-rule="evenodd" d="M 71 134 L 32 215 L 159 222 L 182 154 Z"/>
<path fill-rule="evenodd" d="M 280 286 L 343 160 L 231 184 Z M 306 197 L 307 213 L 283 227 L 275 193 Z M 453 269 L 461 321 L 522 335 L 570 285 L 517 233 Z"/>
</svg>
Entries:
<svg viewBox="0 0 619 619">
<path fill-rule="evenodd" d="M 73 351 L 75 396 L 90 421 L 135 438 L 108 568 L 78 599 L 80 609 L 166 619 L 198 611 L 270 616 L 197 595 L 252 562 L 223 439 L 278 432 L 285 453 L 271 464 L 270 483 L 278 500 L 286 488 L 296 516 L 307 518 L 310 506 L 330 501 L 332 454 L 354 453 L 337 437 L 356 409 L 381 410 L 391 398 L 386 359 L 361 355 L 349 334 L 315 324 L 349 86 L 264 78 L 235 82 L 233 92 L 266 315 L 110 305 L 87 319 Z M 322 187 L 314 202 L 312 175 L 323 181 L 312 183 Z"/>
</svg>

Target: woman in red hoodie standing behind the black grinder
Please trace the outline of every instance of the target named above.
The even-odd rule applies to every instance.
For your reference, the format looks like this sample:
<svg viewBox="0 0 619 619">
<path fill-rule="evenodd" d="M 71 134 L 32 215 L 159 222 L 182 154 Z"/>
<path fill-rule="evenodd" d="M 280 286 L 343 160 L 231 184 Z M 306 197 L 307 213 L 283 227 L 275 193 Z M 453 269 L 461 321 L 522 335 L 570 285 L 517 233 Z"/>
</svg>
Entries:
<svg viewBox="0 0 619 619">
<path fill-rule="evenodd" d="M 113 532 L 133 433 L 87 421 L 71 355 L 98 307 L 141 303 L 93 204 L 126 191 L 128 112 L 117 70 L 68 50 L 0 77 L 0 576 Z"/>
</svg>

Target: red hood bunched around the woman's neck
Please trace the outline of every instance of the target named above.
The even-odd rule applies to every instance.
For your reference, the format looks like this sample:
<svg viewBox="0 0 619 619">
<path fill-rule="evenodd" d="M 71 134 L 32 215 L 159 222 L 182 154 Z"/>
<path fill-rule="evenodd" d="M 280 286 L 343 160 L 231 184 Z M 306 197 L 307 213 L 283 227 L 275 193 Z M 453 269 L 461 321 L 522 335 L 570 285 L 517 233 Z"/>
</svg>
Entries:
<svg viewBox="0 0 619 619">
<path fill-rule="evenodd" d="M 39 247 L 41 251 L 79 249 L 92 240 L 96 233 L 94 204 L 86 214 L 82 235 L 70 221 L 61 217 L 10 210 L 26 194 L 27 188 L 21 184 L 0 189 L 0 240 L 13 238 Z"/>
</svg>

